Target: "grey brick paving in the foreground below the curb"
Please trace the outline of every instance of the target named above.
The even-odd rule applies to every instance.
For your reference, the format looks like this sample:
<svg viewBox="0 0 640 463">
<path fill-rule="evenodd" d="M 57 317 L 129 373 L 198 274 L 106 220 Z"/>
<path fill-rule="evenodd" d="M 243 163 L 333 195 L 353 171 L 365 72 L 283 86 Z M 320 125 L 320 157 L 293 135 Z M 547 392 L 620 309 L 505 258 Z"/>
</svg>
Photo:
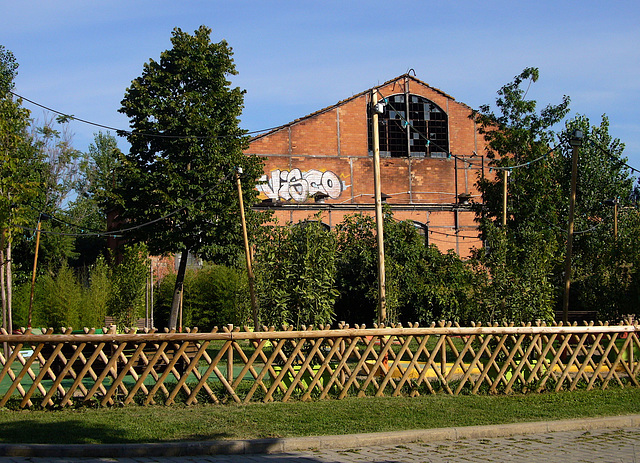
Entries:
<svg viewBox="0 0 640 463">
<path fill-rule="evenodd" d="M 0 457 L 0 463 L 640 463 L 640 427 L 323 449 L 273 455 L 136 458 Z"/>
</svg>

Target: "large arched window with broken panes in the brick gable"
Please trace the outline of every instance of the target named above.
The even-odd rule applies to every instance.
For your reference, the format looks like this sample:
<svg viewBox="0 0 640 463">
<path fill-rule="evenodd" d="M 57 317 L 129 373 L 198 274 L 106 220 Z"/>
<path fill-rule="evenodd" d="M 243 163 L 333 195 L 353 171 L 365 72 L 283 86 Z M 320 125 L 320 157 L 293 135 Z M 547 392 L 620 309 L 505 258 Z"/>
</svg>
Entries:
<svg viewBox="0 0 640 463">
<path fill-rule="evenodd" d="M 378 116 L 380 155 L 386 157 L 447 157 L 447 114 L 434 102 L 419 95 L 391 95 L 382 100 Z M 409 117 L 407 117 L 407 114 Z M 369 153 L 373 153 L 371 114 L 368 115 Z"/>
</svg>

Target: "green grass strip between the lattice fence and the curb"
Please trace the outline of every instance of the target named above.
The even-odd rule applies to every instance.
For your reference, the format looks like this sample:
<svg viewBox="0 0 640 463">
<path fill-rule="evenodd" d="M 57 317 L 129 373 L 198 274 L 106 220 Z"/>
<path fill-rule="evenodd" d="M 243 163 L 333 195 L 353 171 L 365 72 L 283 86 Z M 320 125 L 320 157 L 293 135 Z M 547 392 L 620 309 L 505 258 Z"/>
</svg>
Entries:
<svg viewBox="0 0 640 463">
<path fill-rule="evenodd" d="M 249 405 L 0 410 L 0 443 L 139 443 L 399 431 L 640 413 L 640 388 Z"/>
</svg>

